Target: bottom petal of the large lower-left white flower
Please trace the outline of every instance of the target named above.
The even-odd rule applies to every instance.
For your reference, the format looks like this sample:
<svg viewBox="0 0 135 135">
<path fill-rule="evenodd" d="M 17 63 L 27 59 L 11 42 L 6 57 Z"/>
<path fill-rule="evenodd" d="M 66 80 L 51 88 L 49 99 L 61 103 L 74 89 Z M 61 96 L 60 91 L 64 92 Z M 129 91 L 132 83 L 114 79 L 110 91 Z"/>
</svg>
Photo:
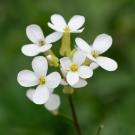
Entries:
<svg viewBox="0 0 135 135">
<path fill-rule="evenodd" d="M 33 102 L 35 104 L 44 104 L 48 101 L 50 92 L 48 88 L 44 85 L 40 85 L 36 88 L 33 95 Z"/>
</svg>

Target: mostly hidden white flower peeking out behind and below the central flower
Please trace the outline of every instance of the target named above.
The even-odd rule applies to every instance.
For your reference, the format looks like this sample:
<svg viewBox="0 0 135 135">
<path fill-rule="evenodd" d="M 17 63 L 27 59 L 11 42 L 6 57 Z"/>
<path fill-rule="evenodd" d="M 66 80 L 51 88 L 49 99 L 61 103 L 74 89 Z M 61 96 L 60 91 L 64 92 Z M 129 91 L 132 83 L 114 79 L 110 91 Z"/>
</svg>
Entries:
<svg viewBox="0 0 135 135">
<path fill-rule="evenodd" d="M 61 68 L 61 72 L 62 72 L 62 75 L 63 75 L 63 79 L 61 79 L 61 85 L 63 85 L 63 86 L 68 86 L 68 85 L 70 85 L 70 84 L 67 82 L 67 80 L 66 80 L 66 75 L 67 75 L 67 72 L 68 72 L 68 71 L 63 70 L 63 69 Z M 70 85 L 70 86 L 71 86 L 72 88 L 82 88 L 82 87 L 85 87 L 87 84 L 88 84 L 88 83 L 87 83 L 86 80 L 84 80 L 84 79 L 79 79 L 79 81 L 78 81 L 76 84 Z"/>
</svg>

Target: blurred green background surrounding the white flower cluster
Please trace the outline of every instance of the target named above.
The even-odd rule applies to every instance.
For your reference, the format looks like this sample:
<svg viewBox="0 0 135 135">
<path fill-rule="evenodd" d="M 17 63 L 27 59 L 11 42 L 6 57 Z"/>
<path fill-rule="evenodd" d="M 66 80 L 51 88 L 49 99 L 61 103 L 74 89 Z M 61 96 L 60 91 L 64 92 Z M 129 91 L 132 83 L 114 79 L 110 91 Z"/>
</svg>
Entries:
<svg viewBox="0 0 135 135">
<path fill-rule="evenodd" d="M 99 68 L 88 87 L 74 95 L 84 135 L 135 135 L 135 1 L 134 0 L 0 0 L 0 135 L 75 135 L 72 122 L 53 116 L 43 106 L 31 103 L 26 89 L 16 81 L 22 69 L 31 69 L 31 60 L 20 49 L 30 43 L 25 28 L 40 25 L 47 35 L 50 16 L 75 14 L 86 17 L 81 36 L 92 43 L 101 33 L 112 35 L 112 48 L 104 55 L 114 58 L 119 69 Z M 57 53 L 60 42 L 53 48 Z M 67 96 L 60 93 L 60 111 L 71 115 Z"/>
</svg>

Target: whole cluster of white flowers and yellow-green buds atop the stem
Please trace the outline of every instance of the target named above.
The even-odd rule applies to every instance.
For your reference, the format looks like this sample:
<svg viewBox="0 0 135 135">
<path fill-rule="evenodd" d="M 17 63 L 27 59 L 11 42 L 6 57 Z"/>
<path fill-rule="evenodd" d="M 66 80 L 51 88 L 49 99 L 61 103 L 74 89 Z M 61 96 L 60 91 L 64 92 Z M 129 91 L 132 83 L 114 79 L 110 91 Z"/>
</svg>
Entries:
<svg viewBox="0 0 135 135">
<path fill-rule="evenodd" d="M 35 104 L 44 105 L 49 111 L 58 111 L 60 97 L 54 93 L 59 85 L 63 85 L 63 92 L 72 94 L 76 88 L 85 87 L 86 79 L 93 76 L 93 71 L 101 67 L 107 71 L 117 69 L 117 63 L 108 57 L 100 56 L 112 45 L 112 38 L 107 34 L 98 35 L 94 42 L 89 44 L 82 38 L 75 38 L 76 46 L 71 44 L 71 33 L 81 33 L 85 18 L 73 16 L 68 23 L 58 14 L 51 16 L 48 26 L 55 32 L 44 36 L 42 29 L 32 24 L 26 28 L 30 44 L 24 45 L 22 53 L 32 60 L 32 69 L 18 73 L 17 81 L 23 87 L 32 87 L 27 90 L 26 96 Z M 60 56 L 52 51 L 53 44 L 62 39 Z M 37 56 L 39 54 L 42 56 Z M 57 72 L 47 73 L 48 65 L 54 66 Z M 36 87 L 36 88 L 34 88 Z"/>
</svg>

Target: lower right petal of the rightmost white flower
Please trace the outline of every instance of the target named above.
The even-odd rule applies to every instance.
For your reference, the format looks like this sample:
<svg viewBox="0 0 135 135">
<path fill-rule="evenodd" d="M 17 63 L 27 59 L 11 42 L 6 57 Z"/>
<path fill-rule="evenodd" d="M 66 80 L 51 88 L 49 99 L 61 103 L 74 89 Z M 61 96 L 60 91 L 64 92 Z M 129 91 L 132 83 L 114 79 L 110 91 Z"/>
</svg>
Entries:
<svg viewBox="0 0 135 135">
<path fill-rule="evenodd" d="M 97 64 L 99 64 L 99 66 L 101 66 L 103 69 L 107 71 L 114 71 L 118 68 L 117 62 L 107 57 L 97 57 L 96 62 Z"/>
</svg>

